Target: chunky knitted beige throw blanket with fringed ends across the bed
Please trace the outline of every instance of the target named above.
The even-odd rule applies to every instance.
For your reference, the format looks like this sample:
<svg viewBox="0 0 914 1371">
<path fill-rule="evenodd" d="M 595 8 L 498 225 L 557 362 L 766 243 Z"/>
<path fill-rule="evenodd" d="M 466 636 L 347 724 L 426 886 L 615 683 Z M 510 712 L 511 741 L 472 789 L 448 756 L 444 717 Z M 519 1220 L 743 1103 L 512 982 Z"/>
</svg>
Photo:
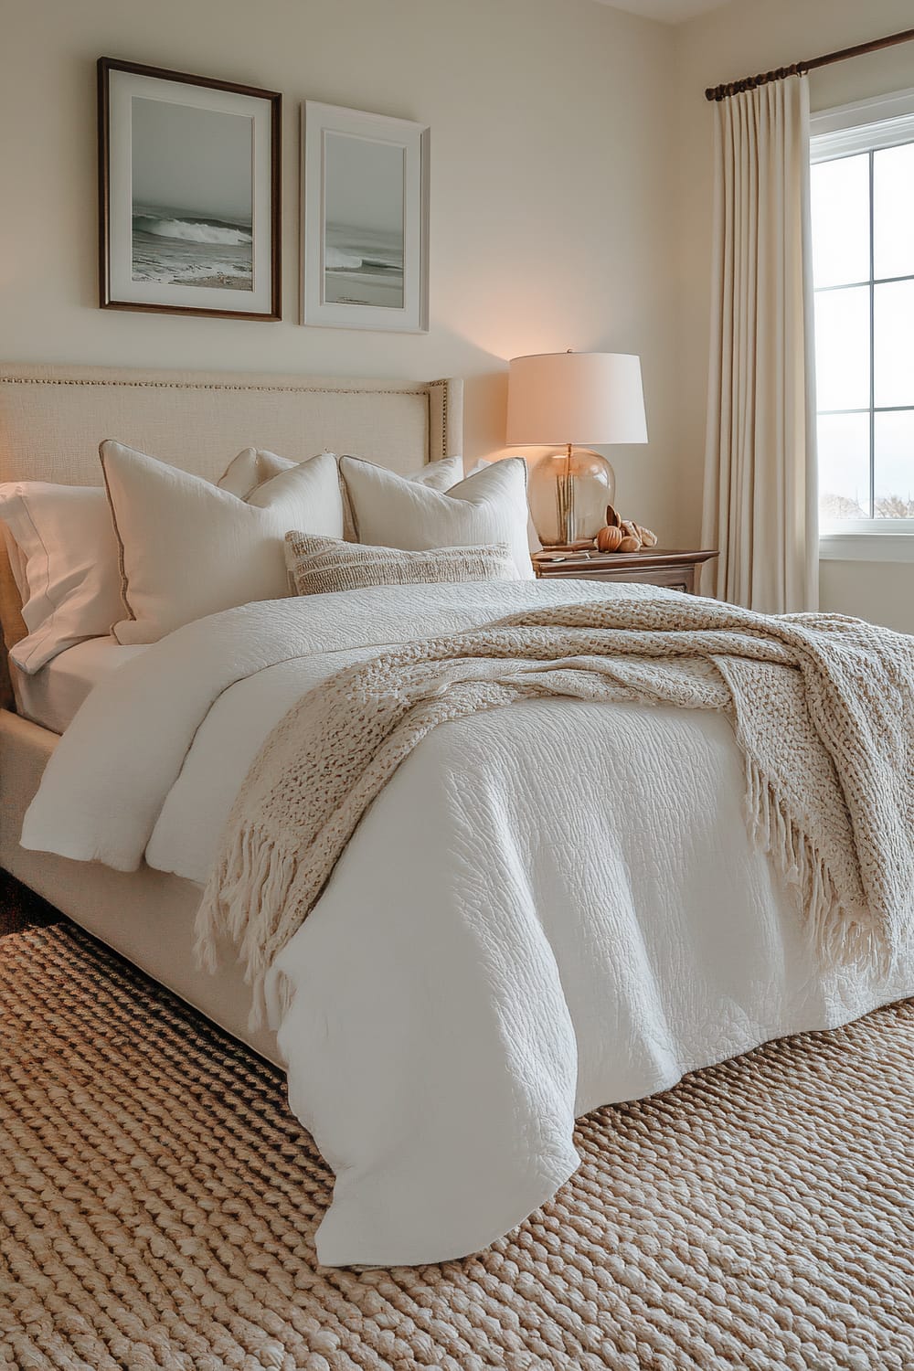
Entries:
<svg viewBox="0 0 914 1371">
<path fill-rule="evenodd" d="M 410 643 L 310 691 L 232 809 L 197 951 L 263 978 L 359 818 L 436 725 L 544 695 L 718 709 L 745 761 L 755 840 L 836 961 L 888 969 L 914 902 L 914 638 L 840 616 L 769 617 L 692 596 L 545 607 Z"/>
</svg>

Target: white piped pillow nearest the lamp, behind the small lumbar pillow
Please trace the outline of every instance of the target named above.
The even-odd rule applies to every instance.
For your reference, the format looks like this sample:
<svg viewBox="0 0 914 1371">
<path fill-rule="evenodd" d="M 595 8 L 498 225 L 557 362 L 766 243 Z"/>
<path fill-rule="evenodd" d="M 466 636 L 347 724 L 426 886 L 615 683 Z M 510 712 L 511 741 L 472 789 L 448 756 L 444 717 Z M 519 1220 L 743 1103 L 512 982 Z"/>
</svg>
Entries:
<svg viewBox="0 0 914 1371">
<path fill-rule="evenodd" d="M 340 470 L 360 543 L 412 553 L 507 543 L 518 573 L 525 580 L 533 577 L 522 457 L 493 462 L 447 492 L 418 485 L 358 457 L 341 457 Z"/>
</svg>

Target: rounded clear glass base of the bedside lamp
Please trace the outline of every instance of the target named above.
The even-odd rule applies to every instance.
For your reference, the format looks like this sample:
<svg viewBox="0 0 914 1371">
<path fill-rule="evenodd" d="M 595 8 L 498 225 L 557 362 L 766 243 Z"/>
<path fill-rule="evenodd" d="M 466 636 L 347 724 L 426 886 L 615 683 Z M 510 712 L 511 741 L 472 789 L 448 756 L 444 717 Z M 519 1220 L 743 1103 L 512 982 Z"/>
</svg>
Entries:
<svg viewBox="0 0 914 1371">
<path fill-rule="evenodd" d="M 543 547 L 584 542 L 606 524 L 606 506 L 615 500 L 615 472 L 599 452 L 562 448 L 534 465 L 528 496 Z"/>
</svg>

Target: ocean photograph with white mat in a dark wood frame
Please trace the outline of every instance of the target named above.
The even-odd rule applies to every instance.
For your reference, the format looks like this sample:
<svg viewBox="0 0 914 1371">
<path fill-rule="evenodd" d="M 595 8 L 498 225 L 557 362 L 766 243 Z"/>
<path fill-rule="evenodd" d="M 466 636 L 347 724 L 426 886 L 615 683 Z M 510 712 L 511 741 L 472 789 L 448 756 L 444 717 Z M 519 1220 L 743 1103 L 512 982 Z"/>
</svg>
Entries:
<svg viewBox="0 0 914 1371">
<path fill-rule="evenodd" d="M 108 310 L 278 319 L 275 90 L 99 59 L 99 284 Z"/>
</svg>

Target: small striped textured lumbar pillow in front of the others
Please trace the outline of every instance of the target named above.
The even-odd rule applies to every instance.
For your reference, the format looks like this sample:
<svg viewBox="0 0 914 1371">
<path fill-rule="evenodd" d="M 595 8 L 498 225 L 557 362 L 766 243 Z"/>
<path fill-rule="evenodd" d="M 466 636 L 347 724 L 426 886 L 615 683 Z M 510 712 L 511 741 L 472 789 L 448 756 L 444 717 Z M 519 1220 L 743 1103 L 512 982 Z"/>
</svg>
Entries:
<svg viewBox="0 0 914 1371">
<path fill-rule="evenodd" d="M 293 529 L 285 535 L 285 559 L 297 595 L 332 595 L 365 585 L 518 580 L 507 543 L 402 553 Z"/>
</svg>

